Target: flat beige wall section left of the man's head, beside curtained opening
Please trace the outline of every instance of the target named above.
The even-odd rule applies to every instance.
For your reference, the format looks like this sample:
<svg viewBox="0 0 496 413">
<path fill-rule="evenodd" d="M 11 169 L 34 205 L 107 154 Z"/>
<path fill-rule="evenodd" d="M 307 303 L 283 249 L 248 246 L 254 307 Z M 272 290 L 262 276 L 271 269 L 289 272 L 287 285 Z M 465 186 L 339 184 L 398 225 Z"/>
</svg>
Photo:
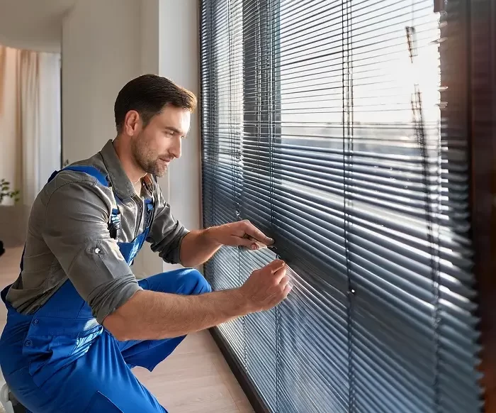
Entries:
<svg viewBox="0 0 496 413">
<path fill-rule="evenodd" d="M 62 22 L 64 160 L 88 158 L 115 138 L 115 97 L 137 75 L 140 1 L 78 0 Z"/>
</svg>

